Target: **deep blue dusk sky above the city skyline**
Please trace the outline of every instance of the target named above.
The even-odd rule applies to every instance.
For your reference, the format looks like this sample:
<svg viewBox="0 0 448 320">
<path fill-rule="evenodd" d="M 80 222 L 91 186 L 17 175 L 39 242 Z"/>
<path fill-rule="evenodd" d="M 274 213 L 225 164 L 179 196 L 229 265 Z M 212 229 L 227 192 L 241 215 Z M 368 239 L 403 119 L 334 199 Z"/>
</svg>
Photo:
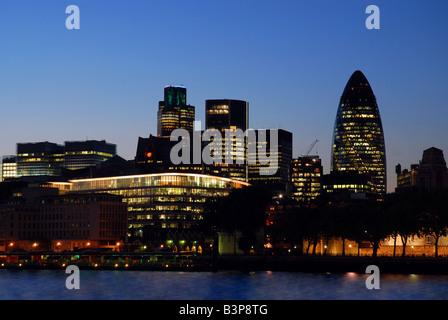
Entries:
<svg viewBox="0 0 448 320">
<path fill-rule="evenodd" d="M 75 4 L 81 29 L 68 30 Z M 368 5 L 381 29 L 368 30 Z M 294 134 L 330 169 L 339 98 L 359 69 L 377 97 L 388 189 L 394 168 L 448 151 L 448 2 L 299 0 L 1 0 L 0 156 L 17 142 L 105 139 L 126 159 L 156 134 L 166 85 L 249 101 L 250 127 Z"/>
</svg>

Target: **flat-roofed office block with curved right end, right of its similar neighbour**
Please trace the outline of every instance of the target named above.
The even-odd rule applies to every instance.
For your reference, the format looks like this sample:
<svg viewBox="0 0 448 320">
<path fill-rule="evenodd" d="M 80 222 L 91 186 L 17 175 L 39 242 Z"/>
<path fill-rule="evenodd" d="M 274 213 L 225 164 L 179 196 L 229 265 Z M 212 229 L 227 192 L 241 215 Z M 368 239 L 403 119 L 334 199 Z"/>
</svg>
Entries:
<svg viewBox="0 0 448 320">
<path fill-rule="evenodd" d="M 104 140 L 66 141 L 64 167 L 70 170 L 95 166 L 113 158 L 117 146 Z"/>
</svg>

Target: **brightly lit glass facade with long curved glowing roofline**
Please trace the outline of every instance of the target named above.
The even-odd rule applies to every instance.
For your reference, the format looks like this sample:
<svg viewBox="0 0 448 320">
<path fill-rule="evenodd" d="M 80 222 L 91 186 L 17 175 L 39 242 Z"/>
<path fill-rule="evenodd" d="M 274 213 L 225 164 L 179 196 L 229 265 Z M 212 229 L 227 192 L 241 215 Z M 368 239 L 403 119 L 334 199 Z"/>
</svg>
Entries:
<svg viewBox="0 0 448 320">
<path fill-rule="evenodd" d="M 202 219 L 206 199 L 226 196 L 232 189 L 249 184 L 201 174 L 156 173 L 70 180 L 52 185 L 71 193 L 120 195 L 129 208 L 129 228 L 139 232 L 146 226 L 188 229 Z"/>
</svg>

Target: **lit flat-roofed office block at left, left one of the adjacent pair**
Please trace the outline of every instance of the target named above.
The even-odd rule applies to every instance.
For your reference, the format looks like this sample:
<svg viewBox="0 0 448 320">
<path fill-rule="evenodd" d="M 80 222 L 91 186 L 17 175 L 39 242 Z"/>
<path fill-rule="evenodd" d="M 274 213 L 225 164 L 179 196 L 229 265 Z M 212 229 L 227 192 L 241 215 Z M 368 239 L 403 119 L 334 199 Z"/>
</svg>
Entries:
<svg viewBox="0 0 448 320">
<path fill-rule="evenodd" d="M 58 176 L 64 161 L 64 147 L 52 142 L 18 143 L 17 176 Z"/>
</svg>

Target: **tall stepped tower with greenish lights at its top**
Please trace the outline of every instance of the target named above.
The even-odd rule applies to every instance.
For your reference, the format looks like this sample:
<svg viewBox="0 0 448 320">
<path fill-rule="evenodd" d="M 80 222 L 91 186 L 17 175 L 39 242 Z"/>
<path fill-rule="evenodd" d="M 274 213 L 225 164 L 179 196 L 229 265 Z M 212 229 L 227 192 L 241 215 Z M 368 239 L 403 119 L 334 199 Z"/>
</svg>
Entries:
<svg viewBox="0 0 448 320">
<path fill-rule="evenodd" d="M 169 137 L 175 129 L 193 131 L 195 107 L 187 105 L 187 89 L 167 86 L 157 112 L 157 136 Z"/>
</svg>

